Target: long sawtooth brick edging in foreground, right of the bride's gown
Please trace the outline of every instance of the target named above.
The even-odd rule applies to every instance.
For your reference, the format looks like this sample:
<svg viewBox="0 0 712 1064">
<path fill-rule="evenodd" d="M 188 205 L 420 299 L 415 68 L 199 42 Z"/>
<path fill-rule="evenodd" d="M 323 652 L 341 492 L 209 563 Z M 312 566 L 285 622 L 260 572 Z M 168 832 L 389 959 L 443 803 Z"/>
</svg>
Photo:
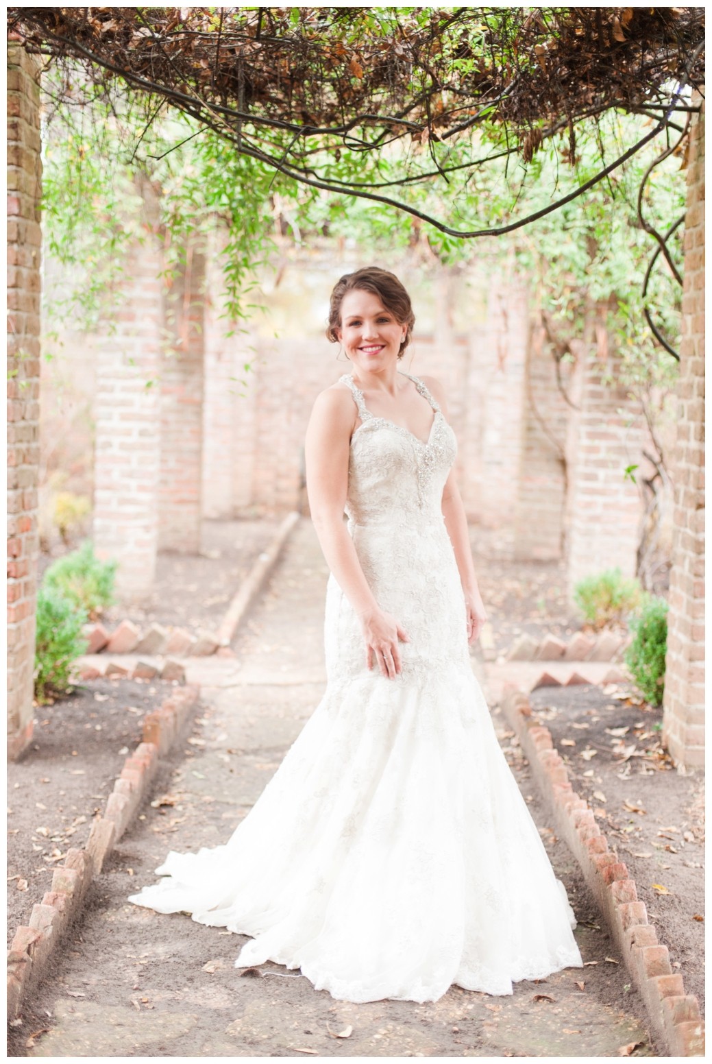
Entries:
<svg viewBox="0 0 712 1064">
<path fill-rule="evenodd" d="M 528 696 L 509 685 L 502 711 L 516 732 L 532 775 L 547 799 L 560 837 L 568 844 L 593 891 L 630 976 L 640 991 L 651 1027 L 670 1057 L 705 1055 L 705 1023 L 682 976 L 674 975 L 667 947 L 648 924 L 635 882 L 608 848 L 593 811 L 574 791 L 548 728 L 532 719 Z"/>
</svg>

